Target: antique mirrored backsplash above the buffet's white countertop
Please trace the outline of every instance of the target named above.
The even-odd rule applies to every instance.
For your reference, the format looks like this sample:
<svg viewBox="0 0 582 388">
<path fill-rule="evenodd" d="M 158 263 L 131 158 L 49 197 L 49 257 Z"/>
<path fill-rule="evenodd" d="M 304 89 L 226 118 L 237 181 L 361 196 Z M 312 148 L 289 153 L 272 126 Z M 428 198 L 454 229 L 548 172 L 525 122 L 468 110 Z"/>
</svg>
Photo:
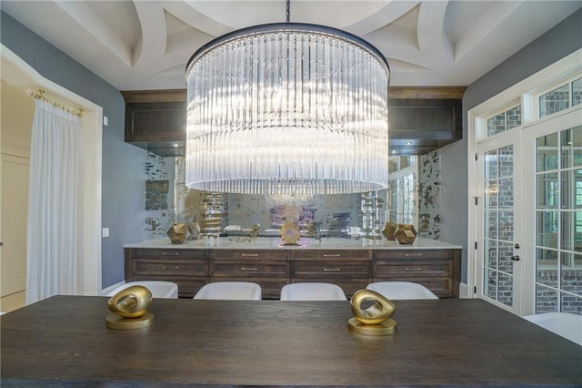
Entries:
<svg viewBox="0 0 582 388">
<path fill-rule="evenodd" d="M 325 196 L 261 196 L 188 189 L 183 157 L 146 156 L 146 239 L 166 237 L 176 222 L 200 225 L 202 236 L 244 234 L 260 226 L 261 236 L 280 236 L 286 220 L 303 236 L 383 239 L 386 221 L 413 224 L 418 237 L 438 239 L 440 160 L 437 151 L 390 158 L 386 190 Z"/>
</svg>

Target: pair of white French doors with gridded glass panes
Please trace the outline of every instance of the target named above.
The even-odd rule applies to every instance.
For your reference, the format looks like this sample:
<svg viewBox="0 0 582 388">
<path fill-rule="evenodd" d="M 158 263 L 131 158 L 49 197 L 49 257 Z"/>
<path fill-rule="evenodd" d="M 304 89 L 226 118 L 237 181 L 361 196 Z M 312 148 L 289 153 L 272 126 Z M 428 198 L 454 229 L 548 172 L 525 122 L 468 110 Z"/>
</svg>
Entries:
<svg viewBox="0 0 582 388">
<path fill-rule="evenodd" d="M 476 296 L 582 313 L 581 109 L 477 144 Z"/>
</svg>

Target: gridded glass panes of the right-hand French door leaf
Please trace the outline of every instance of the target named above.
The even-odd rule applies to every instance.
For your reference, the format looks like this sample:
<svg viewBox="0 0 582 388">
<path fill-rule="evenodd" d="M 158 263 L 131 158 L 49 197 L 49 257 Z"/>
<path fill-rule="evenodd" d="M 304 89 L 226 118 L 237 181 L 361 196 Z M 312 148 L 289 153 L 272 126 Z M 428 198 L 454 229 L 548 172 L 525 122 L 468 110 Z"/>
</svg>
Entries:
<svg viewBox="0 0 582 388">
<path fill-rule="evenodd" d="M 582 313 L 582 127 L 536 138 L 535 311 Z"/>
</svg>

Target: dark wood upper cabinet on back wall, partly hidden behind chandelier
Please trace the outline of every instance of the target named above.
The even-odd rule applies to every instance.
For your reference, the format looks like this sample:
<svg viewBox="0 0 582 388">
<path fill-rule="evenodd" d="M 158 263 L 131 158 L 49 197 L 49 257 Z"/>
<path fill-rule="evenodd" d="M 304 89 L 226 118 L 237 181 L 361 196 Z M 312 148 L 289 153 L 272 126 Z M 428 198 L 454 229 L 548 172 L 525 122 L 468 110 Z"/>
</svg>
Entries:
<svg viewBox="0 0 582 388">
<path fill-rule="evenodd" d="M 390 87 L 389 148 L 421 155 L 463 138 L 465 87 Z M 162 157 L 185 155 L 186 89 L 122 91 L 125 141 Z"/>
</svg>

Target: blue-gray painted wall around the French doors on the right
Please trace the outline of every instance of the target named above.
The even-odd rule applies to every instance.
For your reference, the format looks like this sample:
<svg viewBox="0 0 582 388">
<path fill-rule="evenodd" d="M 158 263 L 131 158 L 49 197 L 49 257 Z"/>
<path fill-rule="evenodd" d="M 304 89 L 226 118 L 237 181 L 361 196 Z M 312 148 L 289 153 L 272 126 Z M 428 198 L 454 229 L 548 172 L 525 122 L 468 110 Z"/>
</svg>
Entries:
<svg viewBox="0 0 582 388">
<path fill-rule="evenodd" d="M 467 111 L 580 47 L 582 9 L 467 87 L 463 97 L 463 139 L 441 148 L 441 240 L 463 245 L 463 282 L 467 282 Z"/>
</svg>

